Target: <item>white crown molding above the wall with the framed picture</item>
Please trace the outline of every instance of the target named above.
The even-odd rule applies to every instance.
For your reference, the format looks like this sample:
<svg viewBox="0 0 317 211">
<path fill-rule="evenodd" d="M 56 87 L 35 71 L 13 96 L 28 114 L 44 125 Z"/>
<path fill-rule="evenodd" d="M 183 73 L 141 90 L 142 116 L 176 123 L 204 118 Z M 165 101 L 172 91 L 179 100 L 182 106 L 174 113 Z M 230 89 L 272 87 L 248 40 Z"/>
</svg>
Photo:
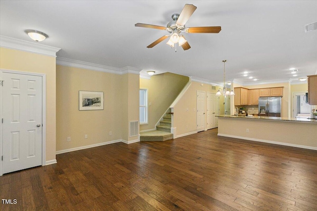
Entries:
<svg viewBox="0 0 317 211">
<path fill-rule="evenodd" d="M 142 70 L 139 68 L 129 67 L 129 66 L 126 66 L 123 68 L 110 67 L 106 65 L 95 64 L 95 63 L 90 63 L 86 61 L 79 61 L 79 60 L 74 60 L 70 58 L 63 58 L 59 56 L 57 56 L 56 58 L 56 64 L 62 65 L 62 66 L 68 66 L 68 67 L 76 67 L 81 69 L 107 72 L 107 73 L 118 74 L 118 75 L 123 75 L 127 73 L 139 75 L 140 71 Z"/>
</svg>

